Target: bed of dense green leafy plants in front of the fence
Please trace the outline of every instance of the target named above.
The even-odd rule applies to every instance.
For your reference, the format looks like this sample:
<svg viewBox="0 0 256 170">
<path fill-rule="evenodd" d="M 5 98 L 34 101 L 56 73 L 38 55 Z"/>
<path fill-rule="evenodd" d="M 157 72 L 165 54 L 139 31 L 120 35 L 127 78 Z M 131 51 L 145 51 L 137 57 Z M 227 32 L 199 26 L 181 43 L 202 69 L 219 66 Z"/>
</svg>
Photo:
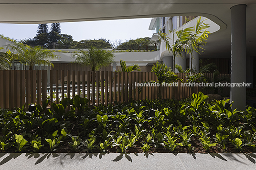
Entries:
<svg viewBox="0 0 256 170">
<path fill-rule="evenodd" d="M 32 112 L 0 109 L 0 152 L 255 152 L 255 108 L 240 112 L 206 99 L 199 92 L 91 109 L 75 96 L 52 108 L 44 101 Z"/>
</svg>

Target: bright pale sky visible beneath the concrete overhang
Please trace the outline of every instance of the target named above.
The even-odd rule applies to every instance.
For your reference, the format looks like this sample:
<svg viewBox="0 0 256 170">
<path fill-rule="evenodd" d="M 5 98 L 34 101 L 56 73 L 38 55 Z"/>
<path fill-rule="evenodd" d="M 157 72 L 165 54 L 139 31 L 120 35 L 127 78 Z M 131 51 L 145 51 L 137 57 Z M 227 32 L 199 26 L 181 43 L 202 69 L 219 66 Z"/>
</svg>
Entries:
<svg viewBox="0 0 256 170">
<path fill-rule="evenodd" d="M 106 38 L 125 42 L 130 38 L 151 38 L 150 20 L 151 18 L 66 22 L 61 23 L 61 33 L 73 36 L 76 41 Z M 36 36 L 37 27 L 38 24 L 0 24 L 0 34 L 17 40 L 28 39 Z"/>
</svg>

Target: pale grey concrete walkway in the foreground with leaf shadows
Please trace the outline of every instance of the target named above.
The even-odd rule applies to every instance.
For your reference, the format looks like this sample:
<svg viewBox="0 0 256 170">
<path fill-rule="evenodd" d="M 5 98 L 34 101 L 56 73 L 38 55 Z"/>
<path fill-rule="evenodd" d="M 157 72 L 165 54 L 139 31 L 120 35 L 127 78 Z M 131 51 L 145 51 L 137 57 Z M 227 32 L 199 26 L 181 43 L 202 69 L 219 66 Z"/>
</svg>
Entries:
<svg viewBox="0 0 256 170">
<path fill-rule="evenodd" d="M 256 170 L 256 153 L 0 153 L 0 170 Z"/>
</svg>

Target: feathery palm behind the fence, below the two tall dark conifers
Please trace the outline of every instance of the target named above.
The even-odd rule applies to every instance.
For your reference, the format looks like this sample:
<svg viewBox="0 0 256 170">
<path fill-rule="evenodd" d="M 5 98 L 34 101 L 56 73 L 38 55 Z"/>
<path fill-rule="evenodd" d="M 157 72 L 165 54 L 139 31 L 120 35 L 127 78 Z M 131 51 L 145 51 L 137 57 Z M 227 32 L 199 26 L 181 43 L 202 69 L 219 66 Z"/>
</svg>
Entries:
<svg viewBox="0 0 256 170">
<path fill-rule="evenodd" d="M 15 45 L 9 44 L 7 49 L 10 49 L 11 53 L 16 54 L 16 59 L 29 66 L 30 70 L 33 70 L 35 64 L 50 64 L 53 66 L 51 59 L 58 57 L 58 55 L 53 54 L 53 51 L 43 49 L 40 46 L 30 47 L 16 43 Z"/>
</svg>

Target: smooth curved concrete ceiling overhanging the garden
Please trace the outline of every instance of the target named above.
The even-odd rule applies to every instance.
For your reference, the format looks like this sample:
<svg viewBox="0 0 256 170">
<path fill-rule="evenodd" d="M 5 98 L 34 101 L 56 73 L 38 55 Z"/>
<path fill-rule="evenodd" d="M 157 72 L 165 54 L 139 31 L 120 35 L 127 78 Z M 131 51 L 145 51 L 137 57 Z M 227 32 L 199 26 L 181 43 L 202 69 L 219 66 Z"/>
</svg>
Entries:
<svg viewBox="0 0 256 170">
<path fill-rule="evenodd" d="M 1 0 L 0 23 L 200 15 L 221 27 L 209 36 L 202 57 L 230 57 L 230 8 L 238 4 L 247 5 L 247 56 L 256 56 L 256 0 Z"/>
</svg>

